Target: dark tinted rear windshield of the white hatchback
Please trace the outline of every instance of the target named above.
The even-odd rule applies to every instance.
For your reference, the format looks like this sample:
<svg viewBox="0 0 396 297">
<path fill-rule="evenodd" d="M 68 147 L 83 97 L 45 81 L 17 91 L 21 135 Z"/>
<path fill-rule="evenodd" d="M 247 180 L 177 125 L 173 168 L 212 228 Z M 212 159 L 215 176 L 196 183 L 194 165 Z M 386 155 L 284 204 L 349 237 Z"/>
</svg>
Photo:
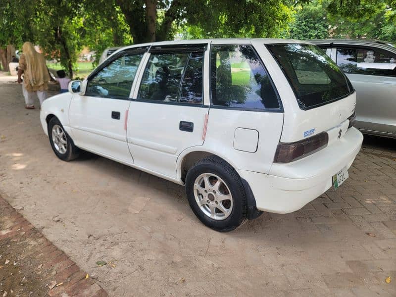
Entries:
<svg viewBox="0 0 396 297">
<path fill-rule="evenodd" d="M 267 48 L 289 80 L 301 109 L 324 105 L 353 92 L 345 74 L 318 47 L 274 44 Z"/>
</svg>

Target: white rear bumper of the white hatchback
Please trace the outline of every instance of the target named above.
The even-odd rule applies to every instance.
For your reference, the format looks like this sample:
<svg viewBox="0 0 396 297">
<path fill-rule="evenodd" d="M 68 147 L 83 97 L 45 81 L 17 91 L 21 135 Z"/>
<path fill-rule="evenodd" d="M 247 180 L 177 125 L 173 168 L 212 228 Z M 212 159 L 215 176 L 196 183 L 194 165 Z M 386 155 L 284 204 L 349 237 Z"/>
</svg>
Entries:
<svg viewBox="0 0 396 297">
<path fill-rule="evenodd" d="M 352 165 L 363 135 L 349 128 L 341 139 L 310 156 L 288 164 L 273 164 L 269 174 L 247 170 L 238 173 L 249 184 L 259 210 L 289 213 L 322 195 L 332 176 Z"/>
</svg>

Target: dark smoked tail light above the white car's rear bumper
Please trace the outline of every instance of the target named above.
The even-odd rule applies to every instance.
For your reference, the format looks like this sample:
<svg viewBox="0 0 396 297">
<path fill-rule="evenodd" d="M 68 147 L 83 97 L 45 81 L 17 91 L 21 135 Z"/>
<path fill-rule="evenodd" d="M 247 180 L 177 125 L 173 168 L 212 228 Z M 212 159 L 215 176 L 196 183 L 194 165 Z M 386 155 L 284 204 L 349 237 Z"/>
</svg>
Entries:
<svg viewBox="0 0 396 297">
<path fill-rule="evenodd" d="M 329 135 L 326 132 L 322 132 L 294 143 L 279 143 L 276 148 L 274 163 L 296 161 L 325 148 L 328 142 Z"/>
</svg>

